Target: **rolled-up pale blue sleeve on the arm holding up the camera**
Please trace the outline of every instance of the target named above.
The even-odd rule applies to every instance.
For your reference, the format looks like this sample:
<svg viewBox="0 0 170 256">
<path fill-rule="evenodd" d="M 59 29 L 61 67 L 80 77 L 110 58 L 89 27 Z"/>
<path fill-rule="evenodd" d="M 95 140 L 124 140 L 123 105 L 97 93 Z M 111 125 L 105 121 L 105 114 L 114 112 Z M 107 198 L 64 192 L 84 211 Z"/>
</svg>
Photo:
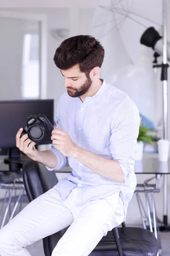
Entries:
<svg viewBox="0 0 170 256">
<path fill-rule="evenodd" d="M 62 129 L 62 125 L 60 122 L 60 100 L 57 104 L 56 126 L 58 126 L 60 129 Z M 56 157 L 58 159 L 58 164 L 55 168 L 50 168 L 50 167 L 46 166 L 48 171 L 59 170 L 59 169 L 62 169 L 64 166 L 68 165 L 68 157 L 65 157 L 58 149 L 54 148 L 53 143 L 51 145 L 51 149 L 49 149 L 49 150 L 56 155 Z"/>
</svg>

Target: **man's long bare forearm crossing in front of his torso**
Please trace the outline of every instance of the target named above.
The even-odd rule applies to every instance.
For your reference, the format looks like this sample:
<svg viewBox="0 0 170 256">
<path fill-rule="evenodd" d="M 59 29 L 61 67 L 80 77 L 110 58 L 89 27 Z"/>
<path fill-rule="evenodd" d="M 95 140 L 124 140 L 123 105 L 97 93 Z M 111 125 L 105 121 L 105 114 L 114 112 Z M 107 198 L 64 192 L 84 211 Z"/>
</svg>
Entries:
<svg viewBox="0 0 170 256">
<path fill-rule="evenodd" d="M 97 174 L 120 183 L 125 183 L 122 168 L 116 160 L 100 157 L 78 146 L 73 157 Z"/>
</svg>

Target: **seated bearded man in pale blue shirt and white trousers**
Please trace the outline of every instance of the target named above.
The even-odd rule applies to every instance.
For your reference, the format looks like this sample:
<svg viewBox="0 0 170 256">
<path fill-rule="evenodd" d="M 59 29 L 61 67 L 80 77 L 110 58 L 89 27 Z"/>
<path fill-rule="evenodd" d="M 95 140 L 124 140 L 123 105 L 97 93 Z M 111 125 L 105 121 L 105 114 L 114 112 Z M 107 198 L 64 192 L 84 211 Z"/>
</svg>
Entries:
<svg viewBox="0 0 170 256">
<path fill-rule="evenodd" d="M 39 152 L 22 128 L 17 147 L 31 159 L 72 173 L 25 207 L 0 230 L 1 256 L 29 256 L 28 244 L 70 227 L 52 256 L 88 256 L 125 221 L 136 186 L 134 158 L 139 111 L 126 93 L 99 79 L 104 49 L 94 37 L 62 42 L 54 63 L 64 78 L 51 150 Z"/>
</svg>

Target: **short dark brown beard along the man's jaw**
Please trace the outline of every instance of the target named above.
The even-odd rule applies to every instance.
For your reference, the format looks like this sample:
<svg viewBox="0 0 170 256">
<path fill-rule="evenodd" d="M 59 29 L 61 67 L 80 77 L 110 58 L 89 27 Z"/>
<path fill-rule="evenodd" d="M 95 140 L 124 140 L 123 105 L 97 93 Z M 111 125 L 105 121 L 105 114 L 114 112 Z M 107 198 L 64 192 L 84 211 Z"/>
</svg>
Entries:
<svg viewBox="0 0 170 256">
<path fill-rule="evenodd" d="M 88 77 L 86 79 L 85 83 L 82 84 L 82 86 L 80 86 L 78 89 L 77 88 L 67 87 L 67 89 L 74 90 L 72 92 L 68 90 L 67 91 L 68 95 L 73 97 L 73 98 L 80 97 L 83 94 L 87 93 L 88 89 L 91 87 L 91 84 L 92 84 L 92 81 L 91 81 L 90 77 Z"/>
</svg>

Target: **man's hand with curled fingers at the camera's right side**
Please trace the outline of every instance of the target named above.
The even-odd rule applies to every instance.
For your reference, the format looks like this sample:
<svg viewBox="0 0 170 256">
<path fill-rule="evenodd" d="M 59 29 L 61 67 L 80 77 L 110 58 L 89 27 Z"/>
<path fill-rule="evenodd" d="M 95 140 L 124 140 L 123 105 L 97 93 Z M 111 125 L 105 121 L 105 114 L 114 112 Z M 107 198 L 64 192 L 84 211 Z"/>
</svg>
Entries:
<svg viewBox="0 0 170 256">
<path fill-rule="evenodd" d="M 57 148 L 66 157 L 76 157 L 79 147 L 73 143 L 68 133 L 56 126 L 56 129 L 51 134 L 54 148 Z"/>
</svg>

